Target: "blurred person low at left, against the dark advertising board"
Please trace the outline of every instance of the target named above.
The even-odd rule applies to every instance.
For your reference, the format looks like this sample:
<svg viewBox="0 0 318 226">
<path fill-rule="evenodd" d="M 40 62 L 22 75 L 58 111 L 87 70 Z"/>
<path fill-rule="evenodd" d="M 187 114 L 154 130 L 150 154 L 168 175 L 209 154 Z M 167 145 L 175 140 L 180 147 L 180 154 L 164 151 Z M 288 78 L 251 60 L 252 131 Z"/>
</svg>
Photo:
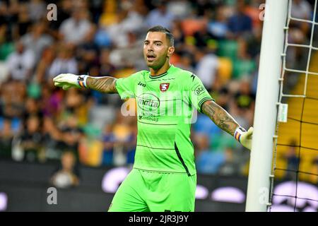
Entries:
<svg viewBox="0 0 318 226">
<path fill-rule="evenodd" d="M 50 183 L 59 189 L 67 189 L 78 186 L 79 178 L 75 155 L 71 151 L 64 152 L 61 156 L 61 164 L 52 174 Z"/>
</svg>

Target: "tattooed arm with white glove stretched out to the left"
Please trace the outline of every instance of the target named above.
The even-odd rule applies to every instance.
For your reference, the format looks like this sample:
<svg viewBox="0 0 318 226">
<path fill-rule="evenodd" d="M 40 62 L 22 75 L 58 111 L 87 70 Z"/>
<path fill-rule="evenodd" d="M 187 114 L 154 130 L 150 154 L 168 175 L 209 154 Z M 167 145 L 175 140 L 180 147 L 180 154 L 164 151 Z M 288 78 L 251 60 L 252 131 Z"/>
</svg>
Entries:
<svg viewBox="0 0 318 226">
<path fill-rule="evenodd" d="M 105 77 L 90 77 L 90 76 L 76 76 L 72 73 L 61 73 L 59 76 L 53 78 L 54 85 L 68 90 L 71 87 L 75 88 L 90 88 L 98 90 L 103 93 L 117 93 L 115 82 L 116 78 L 110 76 Z"/>
</svg>

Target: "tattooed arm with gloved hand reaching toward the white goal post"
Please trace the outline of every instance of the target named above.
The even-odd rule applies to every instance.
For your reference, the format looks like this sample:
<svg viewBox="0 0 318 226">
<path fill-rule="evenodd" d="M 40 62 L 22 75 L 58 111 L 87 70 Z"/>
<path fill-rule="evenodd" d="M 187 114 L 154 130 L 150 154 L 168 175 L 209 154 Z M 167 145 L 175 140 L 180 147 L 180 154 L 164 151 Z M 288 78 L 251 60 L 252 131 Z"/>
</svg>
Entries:
<svg viewBox="0 0 318 226">
<path fill-rule="evenodd" d="M 246 131 L 223 107 L 220 107 L 220 105 L 213 100 L 204 102 L 201 109 L 220 129 L 234 136 L 245 148 L 251 150 L 253 127 Z"/>
</svg>

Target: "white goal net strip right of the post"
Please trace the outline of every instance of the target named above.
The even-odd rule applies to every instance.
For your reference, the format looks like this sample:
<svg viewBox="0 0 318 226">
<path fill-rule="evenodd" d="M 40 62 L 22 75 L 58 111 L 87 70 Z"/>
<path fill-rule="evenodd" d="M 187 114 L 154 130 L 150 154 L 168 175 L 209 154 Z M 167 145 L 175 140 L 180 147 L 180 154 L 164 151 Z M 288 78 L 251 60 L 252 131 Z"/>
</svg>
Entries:
<svg viewBox="0 0 318 226">
<path fill-rule="evenodd" d="M 317 18 L 317 0 L 288 1 L 269 211 L 318 210 Z"/>
</svg>

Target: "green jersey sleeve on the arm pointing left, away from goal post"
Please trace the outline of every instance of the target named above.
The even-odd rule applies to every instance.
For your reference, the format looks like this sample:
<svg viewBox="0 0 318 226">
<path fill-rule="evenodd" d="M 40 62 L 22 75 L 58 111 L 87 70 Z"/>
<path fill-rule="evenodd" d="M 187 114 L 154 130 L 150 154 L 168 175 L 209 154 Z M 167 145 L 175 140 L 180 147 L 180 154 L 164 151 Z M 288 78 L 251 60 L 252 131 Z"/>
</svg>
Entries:
<svg viewBox="0 0 318 226">
<path fill-rule="evenodd" d="M 138 74 L 134 73 L 126 78 L 118 78 L 116 80 L 115 87 L 121 99 L 135 97 L 135 84 Z"/>
</svg>

